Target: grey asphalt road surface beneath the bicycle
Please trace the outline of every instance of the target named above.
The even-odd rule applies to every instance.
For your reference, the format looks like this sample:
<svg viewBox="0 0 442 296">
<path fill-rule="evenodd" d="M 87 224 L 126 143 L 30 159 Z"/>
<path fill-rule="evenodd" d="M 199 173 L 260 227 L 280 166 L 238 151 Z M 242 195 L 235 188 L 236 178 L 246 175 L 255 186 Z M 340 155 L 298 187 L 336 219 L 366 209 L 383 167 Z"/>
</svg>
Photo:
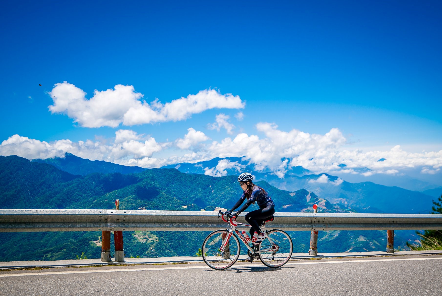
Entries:
<svg viewBox="0 0 442 296">
<path fill-rule="evenodd" d="M 237 262 L 8 270 L 0 295 L 441 296 L 442 256 L 290 261 L 270 269 Z"/>
</svg>

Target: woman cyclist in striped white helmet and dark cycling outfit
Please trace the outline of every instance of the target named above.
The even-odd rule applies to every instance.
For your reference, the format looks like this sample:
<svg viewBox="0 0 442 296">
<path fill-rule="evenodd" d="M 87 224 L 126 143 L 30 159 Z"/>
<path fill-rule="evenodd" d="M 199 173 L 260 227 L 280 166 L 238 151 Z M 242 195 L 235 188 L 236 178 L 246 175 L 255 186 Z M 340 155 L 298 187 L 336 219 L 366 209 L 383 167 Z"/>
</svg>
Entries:
<svg viewBox="0 0 442 296">
<path fill-rule="evenodd" d="M 240 210 L 236 211 L 236 215 L 239 215 L 252 203 L 254 204 L 255 202 L 257 202 L 259 210 L 248 212 L 245 219 L 248 224 L 251 225 L 250 237 L 253 236 L 254 232 L 258 233 L 258 238 L 254 242 L 254 244 L 260 244 L 263 241 L 265 235 L 264 232 L 262 232 L 259 228 L 258 221 L 271 217 L 275 212 L 275 205 L 267 192 L 263 188 L 253 184 L 252 180 L 253 176 L 251 175 L 251 173 L 243 172 L 242 174 L 240 174 L 240 176 L 238 177 L 238 182 L 240 183 L 241 189 L 243 190 L 243 195 L 241 195 L 240 199 L 232 207 L 232 210 L 230 210 L 229 213 L 232 213 L 234 210 L 236 210 L 244 202 L 245 199 L 247 199 L 247 202 L 240 208 Z"/>
</svg>

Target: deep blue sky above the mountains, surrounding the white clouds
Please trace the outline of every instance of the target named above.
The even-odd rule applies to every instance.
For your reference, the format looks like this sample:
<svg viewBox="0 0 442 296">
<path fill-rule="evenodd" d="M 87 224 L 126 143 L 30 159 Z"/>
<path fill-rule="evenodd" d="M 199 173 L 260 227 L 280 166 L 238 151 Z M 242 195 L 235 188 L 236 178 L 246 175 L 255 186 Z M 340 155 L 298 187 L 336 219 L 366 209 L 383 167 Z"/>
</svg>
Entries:
<svg viewBox="0 0 442 296">
<path fill-rule="evenodd" d="M 110 145 L 115 132 L 123 129 L 142 135 L 137 136 L 139 142 L 153 137 L 161 147 L 150 147 L 153 150 L 142 155 L 129 149 L 132 152 L 120 158 L 87 149 L 80 156 L 152 167 L 171 162 L 169 157 L 197 161 L 225 156 L 226 151 L 209 146 L 241 133 L 258 135 L 278 149 L 282 140 L 269 138 L 256 126 L 267 122 L 277 125 L 278 131 L 322 137 L 332 128 L 339 130 L 345 141 L 338 136 L 332 148 L 324 148 L 324 154 L 333 155 L 322 166 L 320 161 L 310 165 L 314 170 L 331 170 L 334 162 L 355 158 L 339 158 L 339 151 L 369 153 L 400 145 L 408 154 L 422 150 L 436 154 L 421 155 L 420 161 L 410 164 L 408 154 L 386 153 L 389 159 L 399 158 L 381 169 L 379 164 L 370 166 L 365 155 L 354 161 L 354 167 L 400 172 L 415 165 L 440 173 L 440 1 L 90 2 L 3 4 L 0 140 L 13 135 L 28 140 L 4 142 L 1 155 L 50 157 L 54 149 L 71 151 L 72 147 L 54 148 L 56 141 L 65 139 Z M 245 107 L 208 108 L 185 120 L 174 121 L 172 116 L 148 124 L 84 127 L 73 123 L 67 109 L 48 109 L 54 105 L 49 93 L 64 81 L 86 92 L 84 100 L 91 99 L 94 90 L 121 84 L 133 86 L 147 103 L 158 98 L 164 104 L 214 89 L 222 97 L 238 96 Z M 83 107 L 82 112 L 87 111 Z M 234 117 L 238 112 L 243 113 L 242 120 Z M 231 134 L 224 128 L 208 128 L 220 113 L 234 125 Z M 180 149 L 174 143 L 184 139 L 189 128 L 201 131 L 207 140 Z M 52 152 L 41 147 L 43 141 Z M 279 148 L 301 143 L 293 141 Z M 266 150 L 263 145 L 260 152 Z M 247 147 L 236 154 L 246 155 L 244 151 Z M 191 153 L 193 158 L 180 158 Z M 276 158 L 293 159 L 303 153 L 297 150 Z M 156 161 L 129 161 L 145 157 Z M 248 156 L 278 170 L 277 159 L 263 157 Z M 309 167 L 298 159 L 294 164 Z"/>
</svg>

